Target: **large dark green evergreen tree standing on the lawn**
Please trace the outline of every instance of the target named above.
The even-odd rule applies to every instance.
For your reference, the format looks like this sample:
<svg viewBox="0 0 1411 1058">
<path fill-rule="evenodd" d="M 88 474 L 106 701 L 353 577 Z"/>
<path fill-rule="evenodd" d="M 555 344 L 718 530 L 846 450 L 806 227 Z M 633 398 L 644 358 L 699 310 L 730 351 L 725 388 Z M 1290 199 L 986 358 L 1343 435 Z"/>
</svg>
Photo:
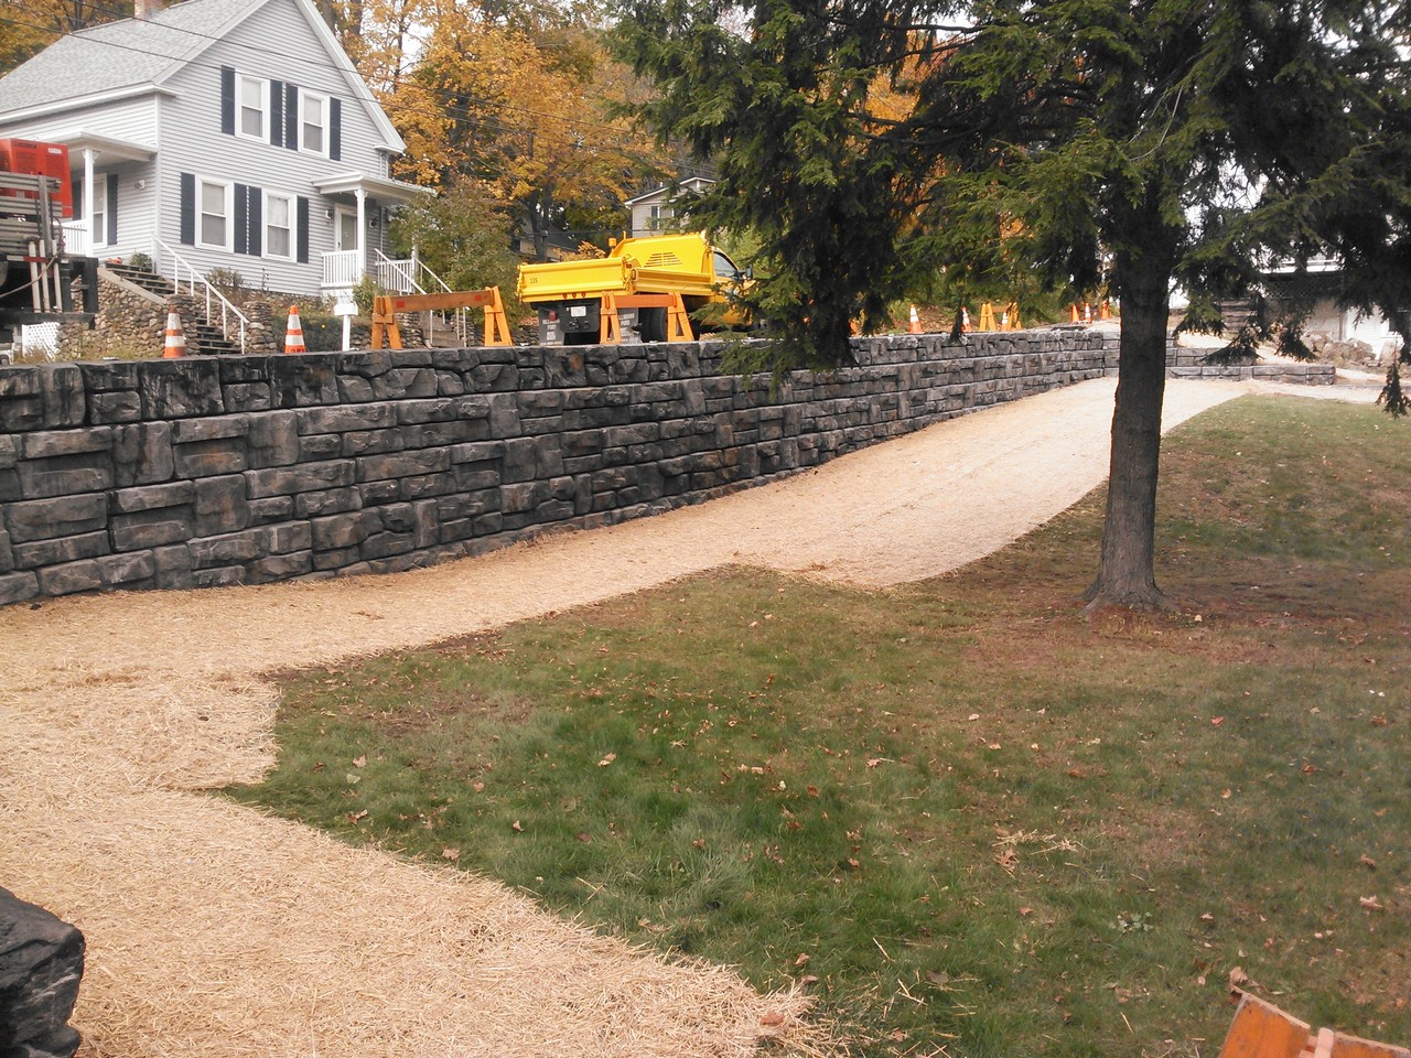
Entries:
<svg viewBox="0 0 1411 1058">
<path fill-rule="evenodd" d="M 1383 0 L 628 0 L 662 133 L 718 161 L 698 207 L 777 262 L 776 367 L 837 364 L 940 267 L 1122 299 L 1095 604 L 1154 577 L 1170 292 L 1342 258 L 1346 300 L 1411 305 L 1407 6 Z M 903 114 L 872 106 L 904 85 Z M 1405 353 L 1403 354 L 1405 357 Z M 1395 368 L 1394 368 L 1395 371 Z M 1397 378 L 1387 396 L 1401 409 Z"/>
</svg>

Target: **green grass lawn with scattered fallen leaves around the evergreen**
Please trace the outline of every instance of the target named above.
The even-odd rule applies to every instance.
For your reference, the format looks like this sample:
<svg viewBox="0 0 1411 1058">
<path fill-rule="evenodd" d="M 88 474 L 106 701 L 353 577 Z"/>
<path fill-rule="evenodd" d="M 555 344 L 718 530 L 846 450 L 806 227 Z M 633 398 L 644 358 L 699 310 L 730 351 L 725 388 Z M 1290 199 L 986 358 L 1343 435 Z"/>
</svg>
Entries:
<svg viewBox="0 0 1411 1058">
<path fill-rule="evenodd" d="M 855 1054 L 1211 1057 L 1236 969 L 1411 1042 L 1411 426 L 1246 398 L 1168 439 L 1178 615 L 1082 618 L 1101 512 L 309 671 L 229 793 L 804 980 Z"/>
</svg>

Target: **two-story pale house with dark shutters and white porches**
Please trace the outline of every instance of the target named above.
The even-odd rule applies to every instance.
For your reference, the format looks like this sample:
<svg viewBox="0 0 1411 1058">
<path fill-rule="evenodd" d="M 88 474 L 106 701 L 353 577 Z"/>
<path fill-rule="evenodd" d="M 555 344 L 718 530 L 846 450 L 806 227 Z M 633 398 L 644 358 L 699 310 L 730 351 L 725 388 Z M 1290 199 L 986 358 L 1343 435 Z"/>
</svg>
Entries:
<svg viewBox="0 0 1411 1058">
<path fill-rule="evenodd" d="M 71 250 L 168 278 L 337 295 L 387 267 L 389 210 L 422 193 L 310 0 L 135 0 L 0 79 L 0 137 L 68 145 Z"/>
</svg>

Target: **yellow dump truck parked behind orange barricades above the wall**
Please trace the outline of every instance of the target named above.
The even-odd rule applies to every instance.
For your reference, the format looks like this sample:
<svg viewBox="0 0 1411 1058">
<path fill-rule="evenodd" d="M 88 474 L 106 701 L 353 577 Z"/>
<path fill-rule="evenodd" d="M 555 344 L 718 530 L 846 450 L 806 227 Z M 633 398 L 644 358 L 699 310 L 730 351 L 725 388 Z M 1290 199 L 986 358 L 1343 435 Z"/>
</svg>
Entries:
<svg viewBox="0 0 1411 1058">
<path fill-rule="evenodd" d="M 694 337 L 683 315 L 727 303 L 746 281 L 700 233 L 624 238 L 607 257 L 519 265 L 519 300 L 539 312 L 539 341 L 591 346 Z M 605 319 L 607 317 L 607 319 Z M 727 312 L 725 322 L 742 324 Z"/>
</svg>

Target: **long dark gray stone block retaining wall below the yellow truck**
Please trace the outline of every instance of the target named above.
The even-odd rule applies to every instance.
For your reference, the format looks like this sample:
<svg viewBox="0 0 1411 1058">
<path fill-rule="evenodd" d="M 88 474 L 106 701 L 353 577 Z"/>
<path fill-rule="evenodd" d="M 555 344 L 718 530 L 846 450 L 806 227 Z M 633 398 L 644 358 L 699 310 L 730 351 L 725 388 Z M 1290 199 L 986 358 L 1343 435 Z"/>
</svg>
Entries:
<svg viewBox="0 0 1411 1058">
<path fill-rule="evenodd" d="M 409 348 L 0 368 L 0 604 L 405 570 L 817 466 L 1115 370 L 1116 334 Z M 1253 370 L 1253 368 L 1245 368 Z"/>
</svg>

